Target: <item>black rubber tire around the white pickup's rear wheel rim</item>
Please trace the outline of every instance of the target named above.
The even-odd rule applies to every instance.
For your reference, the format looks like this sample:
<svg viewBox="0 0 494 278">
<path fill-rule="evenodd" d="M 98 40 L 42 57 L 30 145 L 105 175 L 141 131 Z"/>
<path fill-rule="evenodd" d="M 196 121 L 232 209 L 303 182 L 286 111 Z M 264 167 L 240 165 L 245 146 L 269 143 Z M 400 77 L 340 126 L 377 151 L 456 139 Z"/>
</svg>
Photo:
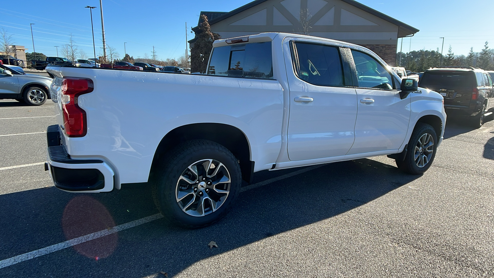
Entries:
<svg viewBox="0 0 494 278">
<path fill-rule="evenodd" d="M 226 195 L 225 199 L 221 200 L 223 197 L 216 198 L 215 205 L 217 206 L 220 203 L 219 207 L 216 210 L 213 210 L 213 198 L 215 198 L 216 190 L 210 190 L 208 188 L 204 189 L 204 186 L 201 184 L 208 183 L 208 180 L 204 181 L 203 175 L 204 171 L 214 171 L 215 162 L 209 164 L 209 168 L 204 166 L 204 168 L 197 167 L 195 168 L 197 172 L 197 179 L 195 179 L 196 175 L 194 172 L 188 171 L 189 166 L 195 165 L 194 163 L 200 163 L 203 160 L 212 159 L 213 161 L 220 162 L 223 164 L 224 168 L 220 168 L 220 164 L 216 163 L 218 169 L 217 172 L 221 171 L 225 172 L 226 169 L 227 175 L 229 175 L 229 184 L 222 184 L 221 186 L 229 185 L 229 193 Z M 204 165 L 204 164 L 198 164 Z M 205 168 L 208 170 L 205 170 Z M 202 171 L 202 172 L 201 172 Z M 184 174 L 187 173 L 187 174 Z M 202 174 L 201 174 L 202 173 Z M 208 173 L 206 172 L 206 177 Z M 191 175 L 190 175 L 191 174 Z M 212 174 L 212 173 L 211 173 Z M 180 179 L 180 177 L 184 175 L 190 178 L 193 182 L 185 183 L 185 185 L 179 186 L 180 183 L 183 183 L 184 180 Z M 225 175 L 225 176 L 227 176 Z M 224 177 L 224 176 L 223 176 Z M 179 180 L 180 179 L 180 180 Z M 211 178 L 211 179 L 214 179 Z M 203 186 L 204 191 L 199 191 L 197 188 L 199 186 L 196 183 L 199 183 L 199 180 L 203 181 L 199 185 Z M 219 179 L 218 179 L 219 180 Z M 218 180 L 211 180 L 214 184 Z M 158 163 L 158 165 L 153 169 L 152 173 L 152 191 L 153 191 L 153 199 L 158 208 L 158 210 L 163 214 L 163 216 L 170 222 L 175 225 L 185 227 L 185 228 L 202 228 L 209 226 L 221 218 L 223 218 L 232 208 L 232 205 L 235 203 L 239 193 L 240 187 L 242 185 L 242 174 L 240 171 L 240 166 L 235 158 L 235 156 L 224 146 L 208 140 L 190 140 L 178 145 L 174 150 L 167 153 L 163 159 Z M 208 183 L 209 184 L 209 183 Z M 185 187 L 182 187 L 185 186 Z M 188 187 L 190 186 L 190 187 Z M 220 186 L 218 185 L 207 185 L 207 186 Z M 197 188 L 196 188 L 197 187 Z M 212 187 L 209 187 L 212 188 Z M 180 191 L 183 190 L 183 191 Z M 192 190 L 192 193 L 189 191 Z M 207 191 L 209 190 L 209 191 Z M 190 207 L 194 208 L 194 204 L 196 203 L 196 198 L 200 200 L 205 200 L 207 197 L 207 204 L 202 206 L 202 210 L 200 210 L 200 206 L 197 205 L 197 209 L 189 209 L 187 210 L 187 205 L 181 203 L 181 201 L 177 201 L 178 194 L 180 192 L 186 192 L 184 195 L 190 196 L 190 201 L 186 200 L 188 204 L 191 204 Z M 189 192 L 189 193 L 187 193 Z M 196 193 L 197 192 L 197 193 Z M 206 192 L 207 193 L 206 195 Z M 192 194 L 192 195 L 191 195 Z M 202 194 L 202 195 L 199 195 Z M 204 196 L 204 198 L 203 198 Z M 224 195 L 222 195 L 224 196 Z M 208 214 L 206 214 L 205 207 L 209 205 Z M 182 210 L 184 207 L 184 210 Z M 187 212 L 186 212 L 187 210 Z M 193 216 L 190 214 L 201 214 L 202 216 Z"/>
</svg>

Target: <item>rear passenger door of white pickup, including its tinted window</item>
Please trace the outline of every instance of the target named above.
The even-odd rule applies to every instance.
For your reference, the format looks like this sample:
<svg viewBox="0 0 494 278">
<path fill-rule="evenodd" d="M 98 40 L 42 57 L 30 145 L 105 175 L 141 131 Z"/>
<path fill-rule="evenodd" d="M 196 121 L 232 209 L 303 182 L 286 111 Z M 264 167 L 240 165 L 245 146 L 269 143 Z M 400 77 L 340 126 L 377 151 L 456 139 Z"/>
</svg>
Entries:
<svg viewBox="0 0 494 278">
<path fill-rule="evenodd" d="M 355 139 L 357 117 L 346 56 L 342 59 L 337 46 L 290 44 L 288 157 L 298 161 L 345 155 Z"/>
</svg>

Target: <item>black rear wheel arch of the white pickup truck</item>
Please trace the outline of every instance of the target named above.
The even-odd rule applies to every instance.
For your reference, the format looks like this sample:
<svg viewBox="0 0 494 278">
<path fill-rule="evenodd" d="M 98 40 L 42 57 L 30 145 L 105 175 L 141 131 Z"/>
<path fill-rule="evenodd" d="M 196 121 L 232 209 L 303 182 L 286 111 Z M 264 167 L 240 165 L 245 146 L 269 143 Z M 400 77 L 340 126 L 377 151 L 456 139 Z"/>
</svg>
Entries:
<svg viewBox="0 0 494 278">
<path fill-rule="evenodd" d="M 252 152 L 247 136 L 237 127 L 220 123 L 188 124 L 168 132 L 156 148 L 150 175 L 157 165 L 160 156 L 170 151 L 174 146 L 193 139 L 210 140 L 230 150 L 239 160 L 242 179 L 247 183 L 251 183 L 254 162 L 251 161 Z"/>
</svg>

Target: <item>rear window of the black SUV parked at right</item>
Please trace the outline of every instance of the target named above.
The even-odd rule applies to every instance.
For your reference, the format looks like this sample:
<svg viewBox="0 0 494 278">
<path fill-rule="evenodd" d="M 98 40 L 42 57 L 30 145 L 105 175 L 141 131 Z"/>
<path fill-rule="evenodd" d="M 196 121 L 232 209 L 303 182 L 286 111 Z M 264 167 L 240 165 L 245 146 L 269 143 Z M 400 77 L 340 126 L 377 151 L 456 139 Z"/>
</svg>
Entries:
<svg viewBox="0 0 494 278">
<path fill-rule="evenodd" d="M 474 85 L 474 75 L 471 72 L 430 71 L 420 79 L 420 86 L 449 85 L 470 87 Z"/>
</svg>

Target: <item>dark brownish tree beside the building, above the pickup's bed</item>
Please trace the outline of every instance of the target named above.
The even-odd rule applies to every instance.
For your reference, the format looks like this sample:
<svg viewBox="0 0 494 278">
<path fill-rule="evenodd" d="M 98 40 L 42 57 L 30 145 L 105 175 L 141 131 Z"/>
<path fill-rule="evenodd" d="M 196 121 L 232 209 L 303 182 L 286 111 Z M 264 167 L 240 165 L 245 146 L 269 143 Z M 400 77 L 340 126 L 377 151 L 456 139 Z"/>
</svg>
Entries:
<svg viewBox="0 0 494 278">
<path fill-rule="evenodd" d="M 207 16 L 201 16 L 201 24 L 197 34 L 197 40 L 190 49 L 191 71 L 206 73 L 207 60 L 213 48 L 213 42 L 221 39 L 220 35 L 211 32 Z M 176 63 L 176 62 L 175 62 Z"/>
</svg>

